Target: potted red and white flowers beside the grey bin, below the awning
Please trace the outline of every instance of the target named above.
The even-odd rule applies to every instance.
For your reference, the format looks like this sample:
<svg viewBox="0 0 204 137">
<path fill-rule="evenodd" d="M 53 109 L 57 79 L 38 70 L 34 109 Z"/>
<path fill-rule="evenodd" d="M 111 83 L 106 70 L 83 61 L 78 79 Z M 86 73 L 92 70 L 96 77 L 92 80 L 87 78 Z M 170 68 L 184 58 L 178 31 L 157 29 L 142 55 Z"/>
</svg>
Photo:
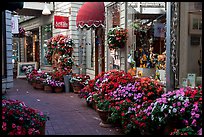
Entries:
<svg viewBox="0 0 204 137">
<path fill-rule="evenodd" d="M 84 88 L 88 84 L 88 81 L 90 80 L 89 75 L 84 74 L 72 74 L 70 83 L 74 90 L 74 93 L 79 93 L 81 89 Z"/>
</svg>

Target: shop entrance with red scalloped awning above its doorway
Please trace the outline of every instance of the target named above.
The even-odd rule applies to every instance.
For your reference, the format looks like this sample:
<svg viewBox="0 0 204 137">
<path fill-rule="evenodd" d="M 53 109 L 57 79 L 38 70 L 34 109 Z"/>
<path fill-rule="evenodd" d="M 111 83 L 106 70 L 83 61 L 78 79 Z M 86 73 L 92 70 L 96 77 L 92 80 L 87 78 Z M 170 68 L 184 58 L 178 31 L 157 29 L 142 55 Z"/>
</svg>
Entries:
<svg viewBox="0 0 204 137">
<path fill-rule="evenodd" d="M 80 74 L 91 78 L 105 71 L 104 2 L 85 2 L 79 9 L 76 25 L 79 32 L 79 68 Z"/>
</svg>

